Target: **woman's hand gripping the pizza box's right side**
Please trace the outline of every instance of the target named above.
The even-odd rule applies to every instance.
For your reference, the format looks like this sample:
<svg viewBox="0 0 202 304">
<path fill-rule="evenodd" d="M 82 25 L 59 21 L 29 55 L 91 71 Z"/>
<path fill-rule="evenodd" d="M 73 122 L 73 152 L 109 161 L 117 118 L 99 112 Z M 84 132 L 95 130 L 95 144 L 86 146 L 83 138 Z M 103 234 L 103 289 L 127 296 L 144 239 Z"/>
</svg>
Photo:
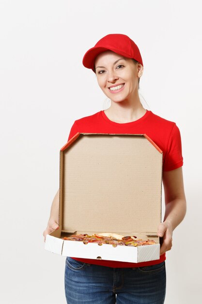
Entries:
<svg viewBox="0 0 202 304">
<path fill-rule="evenodd" d="M 157 236 L 163 237 L 163 243 L 160 247 L 160 255 L 171 250 L 172 247 L 172 227 L 167 221 L 158 226 Z"/>
</svg>

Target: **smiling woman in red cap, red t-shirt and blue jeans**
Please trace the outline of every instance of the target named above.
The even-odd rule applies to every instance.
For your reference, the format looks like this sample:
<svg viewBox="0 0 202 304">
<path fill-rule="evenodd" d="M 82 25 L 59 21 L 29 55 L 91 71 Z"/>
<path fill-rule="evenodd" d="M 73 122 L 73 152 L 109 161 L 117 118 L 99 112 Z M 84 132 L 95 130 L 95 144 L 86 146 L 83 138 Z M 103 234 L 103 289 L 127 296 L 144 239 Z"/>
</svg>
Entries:
<svg viewBox="0 0 202 304">
<path fill-rule="evenodd" d="M 163 304 L 166 291 L 165 253 L 171 250 L 172 232 L 186 214 L 180 132 L 172 121 L 144 109 L 138 88 L 143 63 L 137 45 L 126 35 L 109 34 L 86 52 L 83 65 L 96 74 L 111 100 L 110 107 L 76 120 L 68 140 L 77 132 L 147 134 L 163 151 L 166 210 L 157 234 L 162 237 L 160 259 L 125 263 L 67 257 L 65 294 L 68 304 Z M 44 237 L 58 228 L 59 194 L 51 207 Z"/>
</svg>

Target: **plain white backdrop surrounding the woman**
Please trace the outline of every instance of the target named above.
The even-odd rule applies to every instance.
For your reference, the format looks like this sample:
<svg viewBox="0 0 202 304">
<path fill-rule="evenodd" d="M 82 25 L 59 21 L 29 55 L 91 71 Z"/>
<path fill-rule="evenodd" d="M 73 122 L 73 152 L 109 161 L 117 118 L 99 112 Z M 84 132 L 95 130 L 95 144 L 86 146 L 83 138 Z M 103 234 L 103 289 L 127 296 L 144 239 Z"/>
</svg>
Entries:
<svg viewBox="0 0 202 304">
<path fill-rule="evenodd" d="M 167 253 L 166 304 L 201 299 L 201 1 L 0 0 L 0 303 L 65 304 L 65 258 L 44 250 L 59 151 L 107 108 L 84 53 L 104 35 L 139 46 L 147 108 L 180 128 L 185 220 Z"/>
</svg>

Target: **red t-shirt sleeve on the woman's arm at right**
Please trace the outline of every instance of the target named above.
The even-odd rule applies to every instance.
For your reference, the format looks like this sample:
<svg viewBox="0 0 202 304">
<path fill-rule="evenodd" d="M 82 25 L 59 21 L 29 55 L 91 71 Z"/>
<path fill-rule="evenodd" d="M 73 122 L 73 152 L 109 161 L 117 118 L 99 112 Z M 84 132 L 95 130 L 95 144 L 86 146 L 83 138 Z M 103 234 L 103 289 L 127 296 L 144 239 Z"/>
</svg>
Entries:
<svg viewBox="0 0 202 304">
<path fill-rule="evenodd" d="M 180 130 L 174 123 L 164 158 L 163 171 L 171 171 L 183 166 Z"/>
</svg>

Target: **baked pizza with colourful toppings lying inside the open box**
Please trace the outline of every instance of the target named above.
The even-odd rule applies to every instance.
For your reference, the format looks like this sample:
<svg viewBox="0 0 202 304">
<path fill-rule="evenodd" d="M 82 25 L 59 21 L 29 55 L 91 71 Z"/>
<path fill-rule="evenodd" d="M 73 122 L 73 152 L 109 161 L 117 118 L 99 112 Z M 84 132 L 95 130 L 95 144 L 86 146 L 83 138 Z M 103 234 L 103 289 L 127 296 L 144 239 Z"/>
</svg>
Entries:
<svg viewBox="0 0 202 304">
<path fill-rule="evenodd" d="M 154 240 L 142 240 L 137 238 L 137 236 L 122 236 L 116 233 L 99 233 L 93 234 L 92 236 L 88 234 L 79 234 L 72 236 L 65 236 L 62 239 L 69 241 L 82 241 L 84 244 L 88 243 L 97 243 L 98 245 L 102 244 L 111 244 L 113 247 L 117 245 L 122 246 L 145 246 L 145 245 L 154 245 Z"/>
</svg>

